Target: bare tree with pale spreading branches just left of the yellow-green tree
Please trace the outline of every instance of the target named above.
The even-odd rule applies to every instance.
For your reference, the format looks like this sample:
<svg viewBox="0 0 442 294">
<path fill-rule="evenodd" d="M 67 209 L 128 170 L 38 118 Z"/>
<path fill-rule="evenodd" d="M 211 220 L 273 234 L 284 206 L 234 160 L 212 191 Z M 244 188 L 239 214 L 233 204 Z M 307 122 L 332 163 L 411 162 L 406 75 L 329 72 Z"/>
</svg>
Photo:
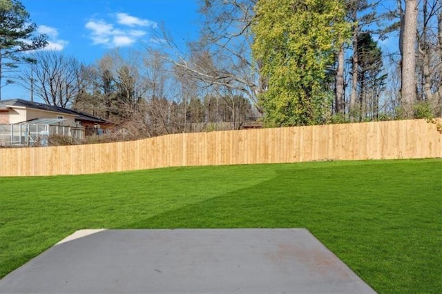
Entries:
<svg viewBox="0 0 442 294">
<path fill-rule="evenodd" d="M 201 0 L 200 39 L 190 44 L 189 55 L 182 54 L 165 33 L 162 39 L 176 52 L 175 66 L 187 70 L 198 85 L 206 90 L 228 88 L 247 97 L 259 110 L 258 96 L 267 85 L 259 73 L 260 61 L 251 56 L 256 1 Z"/>
</svg>

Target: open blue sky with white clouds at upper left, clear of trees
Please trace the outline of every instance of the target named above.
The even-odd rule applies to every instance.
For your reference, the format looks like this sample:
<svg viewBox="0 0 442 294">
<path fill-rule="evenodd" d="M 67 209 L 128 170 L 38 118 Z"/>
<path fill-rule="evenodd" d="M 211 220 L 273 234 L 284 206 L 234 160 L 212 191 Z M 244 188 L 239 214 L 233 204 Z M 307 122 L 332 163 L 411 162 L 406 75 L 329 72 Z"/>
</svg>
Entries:
<svg viewBox="0 0 442 294">
<path fill-rule="evenodd" d="M 152 30 L 164 26 L 177 41 L 198 37 L 196 0 L 21 0 L 49 48 L 93 63 L 111 48 L 155 46 Z M 2 99 L 28 99 L 19 86 Z"/>
</svg>

